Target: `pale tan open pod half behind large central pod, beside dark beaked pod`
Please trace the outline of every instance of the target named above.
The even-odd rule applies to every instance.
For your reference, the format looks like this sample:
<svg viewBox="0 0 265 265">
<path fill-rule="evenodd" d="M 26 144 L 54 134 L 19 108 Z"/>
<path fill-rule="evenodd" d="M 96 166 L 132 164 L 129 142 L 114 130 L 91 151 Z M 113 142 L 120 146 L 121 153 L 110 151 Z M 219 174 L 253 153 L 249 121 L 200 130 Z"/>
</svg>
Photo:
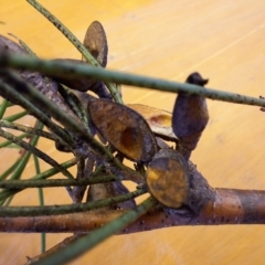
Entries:
<svg viewBox="0 0 265 265">
<path fill-rule="evenodd" d="M 178 140 L 171 125 L 171 113 L 141 104 L 127 104 L 126 106 L 139 113 L 146 119 L 156 136 L 159 136 L 165 140 Z"/>
</svg>

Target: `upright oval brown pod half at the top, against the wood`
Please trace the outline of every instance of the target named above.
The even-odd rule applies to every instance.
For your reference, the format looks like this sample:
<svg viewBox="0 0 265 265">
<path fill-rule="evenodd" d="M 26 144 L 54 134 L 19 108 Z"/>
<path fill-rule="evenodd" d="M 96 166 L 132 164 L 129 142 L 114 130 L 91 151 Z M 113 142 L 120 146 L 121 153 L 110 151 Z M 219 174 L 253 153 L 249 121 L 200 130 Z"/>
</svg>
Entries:
<svg viewBox="0 0 265 265">
<path fill-rule="evenodd" d="M 103 67 L 106 67 L 108 44 L 106 33 L 100 22 L 94 21 L 91 23 L 85 34 L 84 45 L 98 63 Z"/>
</svg>

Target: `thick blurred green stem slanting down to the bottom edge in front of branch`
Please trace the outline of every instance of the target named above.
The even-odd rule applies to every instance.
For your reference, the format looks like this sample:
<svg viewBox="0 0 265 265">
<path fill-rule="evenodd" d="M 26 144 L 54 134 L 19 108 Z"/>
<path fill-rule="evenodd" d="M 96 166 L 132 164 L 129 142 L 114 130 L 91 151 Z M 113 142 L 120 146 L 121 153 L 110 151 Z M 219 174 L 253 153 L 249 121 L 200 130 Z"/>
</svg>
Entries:
<svg viewBox="0 0 265 265">
<path fill-rule="evenodd" d="M 70 261 L 74 259 L 78 255 L 89 251 L 97 244 L 102 243 L 104 240 L 109 236 L 118 233 L 120 230 L 128 226 L 130 223 L 135 222 L 141 215 L 147 213 L 153 206 L 156 206 L 157 202 L 152 198 L 148 198 L 141 204 L 139 204 L 135 210 L 130 210 L 124 213 L 121 216 L 116 220 L 109 222 L 103 227 L 96 230 L 95 232 L 85 235 L 72 244 L 45 256 L 44 258 L 34 263 L 35 265 L 52 265 L 52 264 L 65 264 Z"/>
</svg>

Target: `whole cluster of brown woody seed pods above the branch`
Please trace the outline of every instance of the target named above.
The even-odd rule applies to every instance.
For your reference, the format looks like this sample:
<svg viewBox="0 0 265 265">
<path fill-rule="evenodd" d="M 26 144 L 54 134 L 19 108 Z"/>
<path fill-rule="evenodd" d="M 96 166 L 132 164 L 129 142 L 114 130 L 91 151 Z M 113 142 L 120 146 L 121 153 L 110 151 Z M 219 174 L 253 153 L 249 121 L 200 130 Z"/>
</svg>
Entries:
<svg viewBox="0 0 265 265">
<path fill-rule="evenodd" d="M 87 29 L 84 45 L 97 59 L 103 67 L 107 65 L 108 45 L 102 24 L 93 22 Z M 25 53 L 25 51 L 11 40 L 0 36 L 0 51 L 11 53 Z M 82 60 L 57 59 L 54 61 L 72 62 L 76 65 L 86 64 Z M 34 85 L 50 100 L 64 109 L 75 120 L 78 117 L 64 103 L 60 95 L 60 86 L 63 84 L 75 92 L 87 115 L 92 120 L 89 125 L 93 131 L 108 141 L 123 157 L 144 165 L 146 170 L 146 186 L 149 192 L 165 206 L 178 209 L 189 202 L 190 174 L 188 160 L 203 129 L 206 126 L 209 115 L 205 98 L 199 95 L 179 93 L 173 107 L 173 114 L 158 110 L 141 105 L 121 105 L 112 100 L 105 84 L 92 78 L 43 77 L 39 73 L 20 72 L 21 76 Z M 204 86 L 208 80 L 203 80 L 199 73 L 193 73 L 187 78 L 187 83 Z M 87 94 L 92 91 L 98 97 Z M 0 92 L 1 94 L 1 92 Z M 1 96 L 7 96 L 1 94 Z M 15 103 L 14 98 L 8 98 Z M 153 115 L 159 112 L 159 115 Z M 156 117 L 156 118 L 155 118 Z M 176 142 L 176 148 L 170 148 L 163 140 Z M 56 145 L 60 150 L 67 150 Z M 89 200 L 97 198 L 97 189 L 107 190 L 107 195 L 113 195 L 115 190 L 119 193 L 127 189 L 119 183 L 117 188 L 109 189 L 109 184 L 95 184 L 89 188 Z M 121 188 L 121 189 L 120 189 Z M 116 192 L 117 193 L 117 192 Z M 106 194 L 104 195 L 106 197 Z M 131 205 L 135 205 L 134 203 Z"/>
</svg>

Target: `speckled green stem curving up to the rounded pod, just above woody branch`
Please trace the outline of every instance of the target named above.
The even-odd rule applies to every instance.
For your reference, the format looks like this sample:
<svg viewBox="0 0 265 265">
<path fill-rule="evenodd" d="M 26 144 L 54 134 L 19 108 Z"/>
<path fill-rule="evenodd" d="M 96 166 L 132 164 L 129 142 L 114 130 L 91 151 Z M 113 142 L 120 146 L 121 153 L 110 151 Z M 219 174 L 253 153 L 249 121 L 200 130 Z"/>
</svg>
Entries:
<svg viewBox="0 0 265 265">
<path fill-rule="evenodd" d="M 55 206 L 9 206 L 1 208 L 0 216 L 41 216 L 41 215 L 55 215 L 55 214 L 67 214 L 89 211 L 93 209 L 109 206 L 117 204 L 146 193 L 146 190 L 136 190 L 126 194 L 107 198 L 98 201 L 87 203 L 76 203 L 67 205 L 55 205 Z"/>
</svg>

